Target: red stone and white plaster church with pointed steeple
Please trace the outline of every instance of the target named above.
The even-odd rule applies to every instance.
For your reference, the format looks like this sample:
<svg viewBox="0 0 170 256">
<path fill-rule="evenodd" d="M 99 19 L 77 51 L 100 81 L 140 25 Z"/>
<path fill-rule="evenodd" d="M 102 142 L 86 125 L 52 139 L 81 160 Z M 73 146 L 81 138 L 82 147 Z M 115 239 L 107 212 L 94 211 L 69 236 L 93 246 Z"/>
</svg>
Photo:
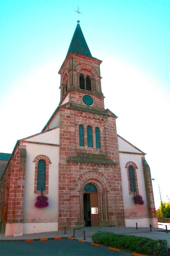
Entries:
<svg viewBox="0 0 170 256">
<path fill-rule="evenodd" d="M 101 60 L 80 27 L 61 75 L 60 103 L 43 130 L 17 141 L 1 179 L 5 236 L 95 226 L 157 227 L 145 153 L 117 134 L 104 108 Z M 36 207 L 37 196 L 48 197 Z M 136 198 L 136 201 L 135 201 Z"/>
</svg>

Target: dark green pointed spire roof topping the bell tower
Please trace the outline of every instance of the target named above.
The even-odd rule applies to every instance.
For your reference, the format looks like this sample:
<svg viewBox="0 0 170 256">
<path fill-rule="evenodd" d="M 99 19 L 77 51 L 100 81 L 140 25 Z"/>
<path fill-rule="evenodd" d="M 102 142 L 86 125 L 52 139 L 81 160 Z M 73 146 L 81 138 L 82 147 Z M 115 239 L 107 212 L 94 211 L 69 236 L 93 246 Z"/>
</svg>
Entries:
<svg viewBox="0 0 170 256">
<path fill-rule="evenodd" d="M 69 51 L 71 51 L 71 52 L 75 52 L 77 54 L 81 54 L 81 55 L 84 55 L 87 57 L 92 57 L 91 52 L 87 46 L 86 40 L 84 38 L 83 32 L 81 30 L 79 22 L 80 21 L 78 20 L 77 27 L 74 31 L 67 54 L 69 53 Z"/>
</svg>

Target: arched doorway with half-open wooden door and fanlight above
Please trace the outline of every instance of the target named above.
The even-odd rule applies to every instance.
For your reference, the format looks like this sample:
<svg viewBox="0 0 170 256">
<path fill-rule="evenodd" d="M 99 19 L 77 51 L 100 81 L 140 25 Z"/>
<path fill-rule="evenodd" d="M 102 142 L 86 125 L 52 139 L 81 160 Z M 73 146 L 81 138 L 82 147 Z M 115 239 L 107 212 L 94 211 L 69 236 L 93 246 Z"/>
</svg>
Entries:
<svg viewBox="0 0 170 256">
<path fill-rule="evenodd" d="M 83 207 L 86 227 L 99 226 L 98 190 L 94 184 L 88 183 L 84 187 Z"/>
</svg>

